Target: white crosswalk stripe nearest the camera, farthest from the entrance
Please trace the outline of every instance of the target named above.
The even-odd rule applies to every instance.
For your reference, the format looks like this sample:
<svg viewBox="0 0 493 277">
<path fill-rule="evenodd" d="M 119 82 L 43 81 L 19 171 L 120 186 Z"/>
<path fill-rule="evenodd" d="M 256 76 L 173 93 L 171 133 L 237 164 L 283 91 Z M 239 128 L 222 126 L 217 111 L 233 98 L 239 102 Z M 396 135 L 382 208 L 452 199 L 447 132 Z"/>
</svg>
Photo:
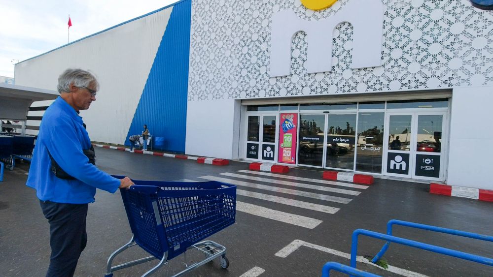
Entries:
<svg viewBox="0 0 493 277">
<path fill-rule="evenodd" d="M 261 206 L 248 204 L 240 201 L 236 201 L 236 210 L 244 212 L 250 215 L 257 215 L 284 223 L 293 224 L 300 227 L 305 227 L 308 229 L 313 229 L 322 223 L 322 220 L 318 220 L 311 217 L 306 217 L 303 215 L 293 215 L 289 213 L 284 213 L 281 211 L 276 211 Z"/>
</svg>

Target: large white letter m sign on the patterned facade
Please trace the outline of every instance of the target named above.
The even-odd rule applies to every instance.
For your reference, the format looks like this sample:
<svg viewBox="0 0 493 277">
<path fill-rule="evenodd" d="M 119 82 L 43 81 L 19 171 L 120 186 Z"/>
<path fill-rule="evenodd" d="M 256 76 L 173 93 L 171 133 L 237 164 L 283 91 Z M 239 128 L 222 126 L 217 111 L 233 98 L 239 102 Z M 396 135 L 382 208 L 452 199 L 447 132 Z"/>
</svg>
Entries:
<svg viewBox="0 0 493 277">
<path fill-rule="evenodd" d="M 352 68 L 382 65 L 383 17 L 382 0 L 351 0 L 333 16 L 319 21 L 303 20 L 290 9 L 274 13 L 270 77 L 291 74 L 291 41 L 299 31 L 307 34 L 307 73 L 330 71 L 333 31 L 343 22 L 354 29 Z"/>
</svg>

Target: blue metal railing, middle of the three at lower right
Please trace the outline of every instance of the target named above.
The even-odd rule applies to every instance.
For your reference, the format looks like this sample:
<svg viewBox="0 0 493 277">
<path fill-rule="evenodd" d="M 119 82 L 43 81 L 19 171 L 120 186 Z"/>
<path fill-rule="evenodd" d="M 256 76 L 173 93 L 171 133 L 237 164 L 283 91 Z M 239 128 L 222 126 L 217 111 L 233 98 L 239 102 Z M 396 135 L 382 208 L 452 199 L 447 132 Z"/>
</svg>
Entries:
<svg viewBox="0 0 493 277">
<path fill-rule="evenodd" d="M 436 253 L 440 253 L 440 254 L 444 254 L 444 255 L 448 255 L 448 256 L 464 259 L 464 260 L 477 262 L 477 263 L 484 264 L 484 265 L 493 266 L 493 259 L 492 258 L 487 258 L 487 257 L 483 257 L 483 256 L 469 254 L 469 253 L 461 252 L 458 250 L 452 250 L 452 249 L 448 249 L 448 248 L 441 247 L 441 246 L 434 246 L 434 245 L 429 245 L 429 244 L 425 244 L 425 243 L 420 243 L 420 242 L 416 242 L 416 241 L 412 241 L 412 240 L 408 240 L 408 239 L 403 239 L 403 238 L 398 238 L 398 237 L 394 237 L 394 236 L 390 236 L 390 235 L 386 235 L 386 234 L 381 234 L 381 233 L 377 233 L 377 232 L 373 232 L 373 231 L 368 231 L 368 230 L 364 230 L 364 229 L 356 229 L 352 233 L 352 242 L 351 242 L 351 267 L 353 267 L 353 268 L 356 268 L 356 254 L 358 252 L 358 236 L 359 235 L 384 240 L 384 241 L 387 241 L 387 243 L 392 242 L 392 243 L 401 244 L 401 245 L 405 245 L 405 246 L 416 247 L 416 248 L 428 250 L 431 252 L 436 252 Z"/>
</svg>

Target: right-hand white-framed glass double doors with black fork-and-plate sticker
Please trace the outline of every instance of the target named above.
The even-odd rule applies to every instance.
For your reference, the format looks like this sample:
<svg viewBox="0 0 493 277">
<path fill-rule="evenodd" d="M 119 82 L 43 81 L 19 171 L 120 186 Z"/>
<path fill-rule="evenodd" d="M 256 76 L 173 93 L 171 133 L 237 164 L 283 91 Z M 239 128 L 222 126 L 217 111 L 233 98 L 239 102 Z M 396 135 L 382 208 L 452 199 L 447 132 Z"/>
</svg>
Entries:
<svg viewBox="0 0 493 277">
<path fill-rule="evenodd" d="M 446 117 L 445 112 L 387 113 L 384 174 L 443 180 Z"/>
</svg>

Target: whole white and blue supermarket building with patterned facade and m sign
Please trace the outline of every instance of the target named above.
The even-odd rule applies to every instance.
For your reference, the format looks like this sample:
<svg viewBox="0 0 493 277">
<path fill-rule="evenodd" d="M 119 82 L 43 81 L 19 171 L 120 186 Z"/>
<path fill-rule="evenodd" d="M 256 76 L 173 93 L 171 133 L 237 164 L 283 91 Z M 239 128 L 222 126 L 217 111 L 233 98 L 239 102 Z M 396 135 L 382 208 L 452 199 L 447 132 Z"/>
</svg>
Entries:
<svg viewBox="0 0 493 277">
<path fill-rule="evenodd" d="M 182 0 L 15 66 L 101 92 L 91 139 L 493 189 L 493 12 L 468 0 Z M 29 124 L 29 122 L 28 122 Z"/>
</svg>

